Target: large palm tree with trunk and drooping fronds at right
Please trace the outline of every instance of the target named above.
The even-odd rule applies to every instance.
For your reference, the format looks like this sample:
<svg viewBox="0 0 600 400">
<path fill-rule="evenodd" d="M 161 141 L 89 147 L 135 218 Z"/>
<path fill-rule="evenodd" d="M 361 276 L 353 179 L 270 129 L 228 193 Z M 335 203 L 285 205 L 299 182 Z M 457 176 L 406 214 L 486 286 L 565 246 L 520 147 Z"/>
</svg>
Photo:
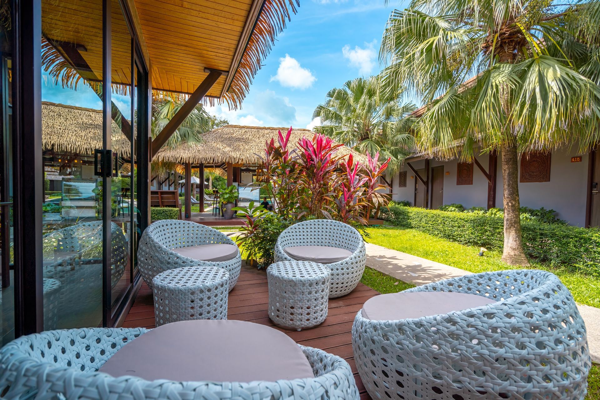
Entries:
<svg viewBox="0 0 600 400">
<path fill-rule="evenodd" d="M 413 0 L 392 12 L 383 34 L 383 85 L 406 86 L 427 105 L 414 125 L 416 146 L 463 160 L 476 146 L 500 152 L 509 264 L 528 264 L 518 155 L 586 152 L 600 139 L 600 5 L 560 3 Z"/>
</svg>

